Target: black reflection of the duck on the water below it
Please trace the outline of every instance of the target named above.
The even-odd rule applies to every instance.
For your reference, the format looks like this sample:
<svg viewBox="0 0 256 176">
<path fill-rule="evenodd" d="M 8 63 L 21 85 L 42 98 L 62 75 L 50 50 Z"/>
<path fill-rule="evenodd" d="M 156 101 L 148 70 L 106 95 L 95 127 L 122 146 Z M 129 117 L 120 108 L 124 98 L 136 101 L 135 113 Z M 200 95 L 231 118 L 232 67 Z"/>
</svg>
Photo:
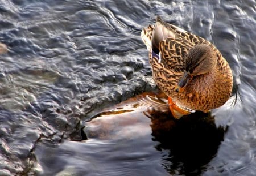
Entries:
<svg viewBox="0 0 256 176">
<path fill-rule="evenodd" d="M 225 128 L 216 127 L 214 117 L 201 111 L 179 121 L 159 113 L 158 117 L 151 119 L 151 128 L 153 140 L 159 141 L 155 148 L 165 151 L 164 168 L 170 174 L 179 170 L 180 175 L 201 175 L 203 167 L 216 156 Z"/>
</svg>

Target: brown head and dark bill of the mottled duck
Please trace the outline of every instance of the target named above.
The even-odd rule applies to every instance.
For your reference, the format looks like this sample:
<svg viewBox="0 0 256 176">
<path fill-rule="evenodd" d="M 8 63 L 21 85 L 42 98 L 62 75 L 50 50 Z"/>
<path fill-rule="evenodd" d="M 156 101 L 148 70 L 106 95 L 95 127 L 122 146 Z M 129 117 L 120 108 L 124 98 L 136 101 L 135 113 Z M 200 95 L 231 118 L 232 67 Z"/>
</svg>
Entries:
<svg viewBox="0 0 256 176">
<path fill-rule="evenodd" d="M 185 60 L 184 75 L 180 79 L 176 91 L 183 92 L 193 76 L 207 74 L 212 71 L 213 67 L 216 66 L 216 62 L 216 52 L 210 46 L 206 44 L 193 46 L 188 52 Z"/>
</svg>

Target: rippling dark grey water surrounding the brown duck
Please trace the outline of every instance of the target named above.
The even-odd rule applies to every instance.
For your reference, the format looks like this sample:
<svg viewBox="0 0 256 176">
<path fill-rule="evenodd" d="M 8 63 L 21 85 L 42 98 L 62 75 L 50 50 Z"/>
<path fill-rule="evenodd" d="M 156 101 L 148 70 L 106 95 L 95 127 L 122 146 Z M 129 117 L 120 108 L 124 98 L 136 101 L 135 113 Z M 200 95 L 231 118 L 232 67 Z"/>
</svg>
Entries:
<svg viewBox="0 0 256 176">
<path fill-rule="evenodd" d="M 255 175 L 255 1 L 0 2 L 0 175 Z M 156 15 L 220 49 L 236 104 L 91 119 L 156 90 L 140 37 Z"/>
</svg>

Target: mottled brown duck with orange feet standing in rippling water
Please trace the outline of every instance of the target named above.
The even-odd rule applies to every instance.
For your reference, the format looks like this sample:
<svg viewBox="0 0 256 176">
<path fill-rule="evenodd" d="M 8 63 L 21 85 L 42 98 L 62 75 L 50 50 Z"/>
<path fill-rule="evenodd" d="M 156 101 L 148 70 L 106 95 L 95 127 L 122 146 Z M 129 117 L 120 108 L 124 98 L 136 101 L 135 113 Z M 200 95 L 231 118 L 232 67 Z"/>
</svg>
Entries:
<svg viewBox="0 0 256 176">
<path fill-rule="evenodd" d="M 189 33 L 160 16 L 142 29 L 152 78 L 167 97 L 174 118 L 225 104 L 232 95 L 229 63 L 211 42 Z"/>
</svg>

